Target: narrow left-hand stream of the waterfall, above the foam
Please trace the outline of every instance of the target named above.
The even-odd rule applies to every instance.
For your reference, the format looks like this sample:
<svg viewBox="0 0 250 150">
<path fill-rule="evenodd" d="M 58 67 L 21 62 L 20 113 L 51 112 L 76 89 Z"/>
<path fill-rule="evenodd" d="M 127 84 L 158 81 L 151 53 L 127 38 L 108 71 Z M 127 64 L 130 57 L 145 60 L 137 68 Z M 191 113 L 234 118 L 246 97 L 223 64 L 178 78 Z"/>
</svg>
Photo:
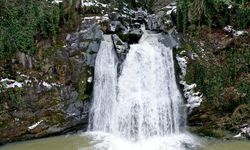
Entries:
<svg viewBox="0 0 250 150">
<path fill-rule="evenodd" d="M 93 104 L 89 129 L 110 132 L 116 103 L 118 60 L 110 35 L 104 35 L 95 61 Z"/>
</svg>

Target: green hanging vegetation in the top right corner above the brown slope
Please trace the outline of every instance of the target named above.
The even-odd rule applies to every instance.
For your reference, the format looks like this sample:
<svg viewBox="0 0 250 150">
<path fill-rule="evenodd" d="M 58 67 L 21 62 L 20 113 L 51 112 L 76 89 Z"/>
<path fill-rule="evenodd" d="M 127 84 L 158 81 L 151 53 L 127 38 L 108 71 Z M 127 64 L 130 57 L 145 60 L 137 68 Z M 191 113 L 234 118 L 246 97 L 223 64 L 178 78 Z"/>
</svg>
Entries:
<svg viewBox="0 0 250 150">
<path fill-rule="evenodd" d="M 190 25 L 210 28 L 250 25 L 250 3 L 244 0 L 177 0 L 177 27 L 187 31 Z"/>
</svg>

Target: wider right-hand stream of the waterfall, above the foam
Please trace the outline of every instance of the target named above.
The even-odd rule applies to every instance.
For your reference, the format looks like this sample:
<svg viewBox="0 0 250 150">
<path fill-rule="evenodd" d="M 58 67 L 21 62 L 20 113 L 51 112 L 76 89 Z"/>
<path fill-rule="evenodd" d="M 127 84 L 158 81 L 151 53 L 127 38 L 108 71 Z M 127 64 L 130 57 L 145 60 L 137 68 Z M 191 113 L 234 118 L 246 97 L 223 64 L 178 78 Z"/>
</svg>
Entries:
<svg viewBox="0 0 250 150">
<path fill-rule="evenodd" d="M 118 133 L 132 140 L 180 131 L 172 50 L 149 36 L 132 45 L 118 81 Z M 118 113 L 119 112 L 119 113 Z"/>
</svg>

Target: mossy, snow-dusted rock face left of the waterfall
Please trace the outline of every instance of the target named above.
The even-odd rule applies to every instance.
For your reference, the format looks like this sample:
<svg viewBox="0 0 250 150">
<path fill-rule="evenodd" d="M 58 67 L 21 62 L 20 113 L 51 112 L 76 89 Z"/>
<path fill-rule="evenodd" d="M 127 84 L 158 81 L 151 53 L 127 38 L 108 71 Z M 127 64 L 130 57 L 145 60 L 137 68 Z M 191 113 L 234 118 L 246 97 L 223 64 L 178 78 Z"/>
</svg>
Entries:
<svg viewBox="0 0 250 150">
<path fill-rule="evenodd" d="M 14 73 L 0 83 L 0 144 L 86 130 L 102 35 L 96 19 L 83 20 L 54 54 L 10 62 Z"/>
</svg>

